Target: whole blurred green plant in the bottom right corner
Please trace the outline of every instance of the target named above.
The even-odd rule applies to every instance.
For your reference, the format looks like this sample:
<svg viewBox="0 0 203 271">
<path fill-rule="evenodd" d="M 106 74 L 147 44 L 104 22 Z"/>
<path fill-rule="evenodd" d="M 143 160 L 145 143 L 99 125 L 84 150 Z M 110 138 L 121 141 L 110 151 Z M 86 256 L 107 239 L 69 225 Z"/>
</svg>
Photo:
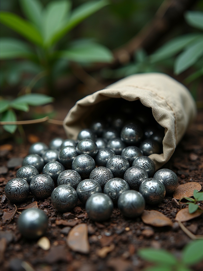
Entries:
<svg viewBox="0 0 203 271">
<path fill-rule="evenodd" d="M 189 266 L 203 259 L 203 239 L 187 244 L 182 251 L 180 260 L 163 249 L 140 249 L 138 255 L 142 259 L 156 264 L 146 268 L 145 271 L 191 271 Z"/>
</svg>

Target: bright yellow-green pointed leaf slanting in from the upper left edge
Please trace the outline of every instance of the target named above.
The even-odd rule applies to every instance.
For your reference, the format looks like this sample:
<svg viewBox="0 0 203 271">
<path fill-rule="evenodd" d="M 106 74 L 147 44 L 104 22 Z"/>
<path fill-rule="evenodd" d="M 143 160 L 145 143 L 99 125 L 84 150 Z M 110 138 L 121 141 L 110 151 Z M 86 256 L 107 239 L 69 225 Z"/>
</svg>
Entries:
<svg viewBox="0 0 203 271">
<path fill-rule="evenodd" d="M 18 15 L 11 12 L 2 11 L 0 13 L 0 21 L 23 37 L 30 40 L 32 43 L 42 45 L 42 37 L 40 32 L 30 22 L 25 21 Z"/>
</svg>

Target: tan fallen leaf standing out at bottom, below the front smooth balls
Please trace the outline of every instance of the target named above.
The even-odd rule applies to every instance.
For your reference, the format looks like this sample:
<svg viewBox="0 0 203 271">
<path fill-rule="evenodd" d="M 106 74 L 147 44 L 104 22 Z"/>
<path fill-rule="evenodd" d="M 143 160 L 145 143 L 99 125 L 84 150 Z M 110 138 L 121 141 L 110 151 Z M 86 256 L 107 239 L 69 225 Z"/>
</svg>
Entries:
<svg viewBox="0 0 203 271">
<path fill-rule="evenodd" d="M 88 241 L 87 225 L 82 223 L 72 228 L 68 233 L 67 244 L 74 251 L 84 254 L 89 253 L 90 244 Z"/>
</svg>

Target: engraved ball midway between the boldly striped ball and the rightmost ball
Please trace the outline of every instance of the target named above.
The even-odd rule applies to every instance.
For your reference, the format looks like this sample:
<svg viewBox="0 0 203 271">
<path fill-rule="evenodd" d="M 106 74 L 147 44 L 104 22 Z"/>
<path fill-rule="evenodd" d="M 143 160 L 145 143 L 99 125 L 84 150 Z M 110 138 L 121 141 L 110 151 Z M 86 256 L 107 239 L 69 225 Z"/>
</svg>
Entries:
<svg viewBox="0 0 203 271">
<path fill-rule="evenodd" d="M 123 179 L 129 184 L 130 188 L 139 190 L 143 180 L 148 178 L 145 169 L 139 166 L 130 167 L 126 170 Z"/>
</svg>

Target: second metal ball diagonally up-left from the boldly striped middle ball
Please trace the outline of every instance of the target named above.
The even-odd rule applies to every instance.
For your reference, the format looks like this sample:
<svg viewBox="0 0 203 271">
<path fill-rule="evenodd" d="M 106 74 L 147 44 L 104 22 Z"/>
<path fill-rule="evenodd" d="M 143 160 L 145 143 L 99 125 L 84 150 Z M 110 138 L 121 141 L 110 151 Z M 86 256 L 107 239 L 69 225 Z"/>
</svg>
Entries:
<svg viewBox="0 0 203 271">
<path fill-rule="evenodd" d="M 58 154 L 58 161 L 67 169 L 71 169 L 74 158 L 77 156 L 76 147 L 66 146 L 60 150 Z"/>
</svg>

